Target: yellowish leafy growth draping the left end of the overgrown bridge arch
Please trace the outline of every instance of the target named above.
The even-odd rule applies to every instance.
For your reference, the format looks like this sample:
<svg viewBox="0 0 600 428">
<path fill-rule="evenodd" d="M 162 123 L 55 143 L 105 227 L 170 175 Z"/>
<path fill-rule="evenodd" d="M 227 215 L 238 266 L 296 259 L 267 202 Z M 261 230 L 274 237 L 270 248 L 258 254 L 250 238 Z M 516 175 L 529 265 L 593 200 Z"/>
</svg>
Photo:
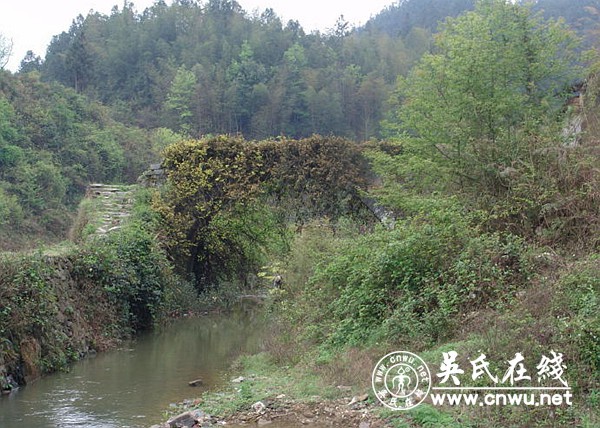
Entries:
<svg viewBox="0 0 600 428">
<path fill-rule="evenodd" d="M 230 253 L 241 248 L 227 220 L 256 198 L 264 174 L 259 160 L 256 146 L 239 138 L 182 141 L 164 151 L 168 186 L 155 207 L 165 222 L 171 253 L 187 265 L 201 288 L 232 273 L 223 272 L 223 267 Z"/>
</svg>

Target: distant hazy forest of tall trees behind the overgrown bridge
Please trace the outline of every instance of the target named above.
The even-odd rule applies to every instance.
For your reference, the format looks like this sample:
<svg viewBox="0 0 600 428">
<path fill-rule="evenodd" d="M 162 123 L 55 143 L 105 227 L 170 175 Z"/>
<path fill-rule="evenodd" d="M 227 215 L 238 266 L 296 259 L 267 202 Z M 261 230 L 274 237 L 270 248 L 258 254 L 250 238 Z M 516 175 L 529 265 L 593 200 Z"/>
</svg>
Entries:
<svg viewBox="0 0 600 428">
<path fill-rule="evenodd" d="M 367 140 L 379 135 L 397 76 L 428 48 L 419 28 L 398 38 L 340 20 L 327 34 L 305 34 L 271 9 L 252 16 L 235 1 L 157 2 L 141 13 L 126 3 L 77 18 L 37 67 L 143 127 Z"/>
</svg>

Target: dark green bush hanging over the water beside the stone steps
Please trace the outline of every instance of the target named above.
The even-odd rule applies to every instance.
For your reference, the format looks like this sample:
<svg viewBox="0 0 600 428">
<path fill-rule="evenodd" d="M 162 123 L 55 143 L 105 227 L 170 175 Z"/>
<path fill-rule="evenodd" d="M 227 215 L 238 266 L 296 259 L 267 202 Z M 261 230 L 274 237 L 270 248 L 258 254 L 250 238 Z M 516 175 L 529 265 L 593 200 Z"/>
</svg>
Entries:
<svg viewBox="0 0 600 428">
<path fill-rule="evenodd" d="M 124 227 L 81 244 L 74 266 L 102 287 L 120 309 L 120 324 L 134 332 L 153 327 L 165 313 L 185 311 L 174 303 L 181 302 L 179 293 L 189 296 L 156 240 L 159 219 L 150 208 L 151 193 L 138 191 L 135 200 Z"/>
</svg>

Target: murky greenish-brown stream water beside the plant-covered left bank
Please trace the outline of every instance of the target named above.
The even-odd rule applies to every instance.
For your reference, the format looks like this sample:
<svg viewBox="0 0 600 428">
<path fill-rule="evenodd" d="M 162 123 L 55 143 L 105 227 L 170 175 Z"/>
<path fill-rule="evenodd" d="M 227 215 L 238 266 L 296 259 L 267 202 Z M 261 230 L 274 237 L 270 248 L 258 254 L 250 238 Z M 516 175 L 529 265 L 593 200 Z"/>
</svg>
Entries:
<svg viewBox="0 0 600 428">
<path fill-rule="evenodd" d="M 224 381 L 242 353 L 256 352 L 257 312 L 179 320 L 121 349 L 74 364 L 0 398 L 2 428 L 148 427 L 165 419 L 170 403 L 199 396 Z M 188 382 L 201 378 L 200 387 Z"/>
</svg>

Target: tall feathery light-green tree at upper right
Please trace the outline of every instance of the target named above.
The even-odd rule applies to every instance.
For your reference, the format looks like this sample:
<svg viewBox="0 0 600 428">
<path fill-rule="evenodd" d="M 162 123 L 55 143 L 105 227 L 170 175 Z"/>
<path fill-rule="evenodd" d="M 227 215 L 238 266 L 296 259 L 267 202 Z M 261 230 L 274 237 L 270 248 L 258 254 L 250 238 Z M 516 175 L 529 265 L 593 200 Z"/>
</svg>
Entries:
<svg viewBox="0 0 600 428">
<path fill-rule="evenodd" d="M 449 19 L 405 82 L 397 119 L 461 187 L 497 188 L 562 111 L 576 38 L 508 0 Z M 502 186 L 500 186 L 502 187 Z"/>
</svg>

